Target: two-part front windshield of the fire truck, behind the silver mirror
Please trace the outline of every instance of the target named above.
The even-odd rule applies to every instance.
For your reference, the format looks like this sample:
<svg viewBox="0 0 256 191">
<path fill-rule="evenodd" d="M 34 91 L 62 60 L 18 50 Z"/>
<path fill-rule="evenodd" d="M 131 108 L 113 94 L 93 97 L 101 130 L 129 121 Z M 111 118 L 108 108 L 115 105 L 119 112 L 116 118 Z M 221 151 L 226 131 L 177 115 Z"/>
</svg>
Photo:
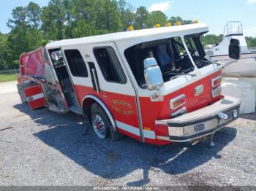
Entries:
<svg viewBox="0 0 256 191">
<path fill-rule="evenodd" d="M 184 38 L 192 58 L 198 68 L 208 65 L 204 58 L 206 53 L 200 42 L 200 34 L 185 36 Z M 124 51 L 132 73 L 140 87 L 146 88 L 144 79 L 143 61 L 146 58 L 155 58 L 162 71 L 165 82 L 181 75 L 189 74 L 195 69 L 187 54 L 182 39 L 173 37 L 170 39 L 159 39 L 157 41 L 143 42 L 129 47 Z"/>
</svg>

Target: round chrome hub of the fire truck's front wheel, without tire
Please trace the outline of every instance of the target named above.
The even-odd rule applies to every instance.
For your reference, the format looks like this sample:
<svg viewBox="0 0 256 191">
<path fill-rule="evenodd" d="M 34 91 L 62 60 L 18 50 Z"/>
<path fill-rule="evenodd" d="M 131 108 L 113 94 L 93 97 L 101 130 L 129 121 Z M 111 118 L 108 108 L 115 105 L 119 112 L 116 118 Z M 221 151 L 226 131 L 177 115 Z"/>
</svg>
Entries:
<svg viewBox="0 0 256 191">
<path fill-rule="evenodd" d="M 105 121 L 99 114 L 94 114 L 92 117 L 92 126 L 94 128 L 95 133 L 101 139 L 105 139 L 107 136 L 107 128 Z"/>
</svg>

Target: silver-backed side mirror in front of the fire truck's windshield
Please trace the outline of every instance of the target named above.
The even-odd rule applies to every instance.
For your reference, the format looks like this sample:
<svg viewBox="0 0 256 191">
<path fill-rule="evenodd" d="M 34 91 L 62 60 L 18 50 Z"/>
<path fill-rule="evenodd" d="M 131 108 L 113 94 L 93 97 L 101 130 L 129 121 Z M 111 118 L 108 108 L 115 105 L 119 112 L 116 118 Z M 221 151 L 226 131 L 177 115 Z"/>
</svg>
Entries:
<svg viewBox="0 0 256 191">
<path fill-rule="evenodd" d="M 155 58 L 144 60 L 144 77 L 148 90 L 157 90 L 164 85 L 162 72 Z"/>
</svg>

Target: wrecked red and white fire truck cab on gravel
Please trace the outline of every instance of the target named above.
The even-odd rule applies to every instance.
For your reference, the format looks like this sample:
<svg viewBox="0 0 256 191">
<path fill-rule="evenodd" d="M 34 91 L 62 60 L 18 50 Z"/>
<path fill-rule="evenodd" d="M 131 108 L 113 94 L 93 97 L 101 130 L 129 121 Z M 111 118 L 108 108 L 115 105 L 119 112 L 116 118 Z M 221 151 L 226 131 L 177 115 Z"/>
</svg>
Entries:
<svg viewBox="0 0 256 191">
<path fill-rule="evenodd" d="M 21 55 L 20 98 L 31 109 L 87 115 L 101 139 L 212 138 L 238 118 L 240 102 L 222 96 L 222 66 L 200 42 L 206 32 L 195 23 L 50 42 Z M 230 58 L 239 52 L 231 40 Z"/>
</svg>

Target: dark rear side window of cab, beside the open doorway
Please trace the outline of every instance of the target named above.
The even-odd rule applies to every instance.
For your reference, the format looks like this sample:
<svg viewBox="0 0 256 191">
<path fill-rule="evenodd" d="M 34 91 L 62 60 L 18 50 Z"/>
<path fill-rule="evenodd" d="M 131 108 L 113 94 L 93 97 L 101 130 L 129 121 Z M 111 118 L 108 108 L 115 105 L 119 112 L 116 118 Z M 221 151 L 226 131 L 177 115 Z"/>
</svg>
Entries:
<svg viewBox="0 0 256 191">
<path fill-rule="evenodd" d="M 74 77 L 88 77 L 86 63 L 78 50 L 64 50 L 69 69 Z"/>
</svg>

